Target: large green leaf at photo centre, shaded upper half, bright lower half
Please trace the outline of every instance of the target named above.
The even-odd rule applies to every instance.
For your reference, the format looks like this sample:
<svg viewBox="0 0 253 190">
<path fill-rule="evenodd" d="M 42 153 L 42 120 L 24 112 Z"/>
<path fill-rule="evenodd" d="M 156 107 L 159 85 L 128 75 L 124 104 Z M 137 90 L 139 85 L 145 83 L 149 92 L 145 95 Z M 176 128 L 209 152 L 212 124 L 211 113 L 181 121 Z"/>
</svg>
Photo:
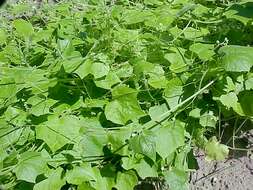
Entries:
<svg viewBox="0 0 253 190">
<path fill-rule="evenodd" d="M 112 90 L 113 100 L 105 107 L 105 116 L 108 120 L 124 125 L 129 120 L 139 119 L 144 115 L 141 110 L 135 89 L 125 85 L 117 86 Z"/>
</svg>

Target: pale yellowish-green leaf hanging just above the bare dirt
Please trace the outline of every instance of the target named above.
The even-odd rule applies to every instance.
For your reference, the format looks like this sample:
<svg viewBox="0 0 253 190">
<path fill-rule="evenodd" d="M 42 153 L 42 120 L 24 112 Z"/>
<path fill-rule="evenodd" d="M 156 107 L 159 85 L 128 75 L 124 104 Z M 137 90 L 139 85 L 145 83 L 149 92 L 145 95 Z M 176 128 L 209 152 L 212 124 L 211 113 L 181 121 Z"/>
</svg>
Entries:
<svg viewBox="0 0 253 190">
<path fill-rule="evenodd" d="M 228 147 L 220 144 L 216 137 L 212 137 L 205 145 L 206 160 L 224 160 L 229 153 Z"/>
</svg>

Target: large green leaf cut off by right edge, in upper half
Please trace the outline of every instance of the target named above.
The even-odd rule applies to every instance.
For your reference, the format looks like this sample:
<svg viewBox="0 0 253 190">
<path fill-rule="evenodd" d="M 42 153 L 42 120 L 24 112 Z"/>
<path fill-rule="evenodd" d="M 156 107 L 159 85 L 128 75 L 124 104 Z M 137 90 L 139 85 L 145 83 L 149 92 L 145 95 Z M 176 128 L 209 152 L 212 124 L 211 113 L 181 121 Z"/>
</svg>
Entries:
<svg viewBox="0 0 253 190">
<path fill-rule="evenodd" d="M 222 66 L 226 71 L 248 72 L 253 65 L 253 48 L 246 46 L 228 45 L 221 47 L 223 55 Z"/>
</svg>

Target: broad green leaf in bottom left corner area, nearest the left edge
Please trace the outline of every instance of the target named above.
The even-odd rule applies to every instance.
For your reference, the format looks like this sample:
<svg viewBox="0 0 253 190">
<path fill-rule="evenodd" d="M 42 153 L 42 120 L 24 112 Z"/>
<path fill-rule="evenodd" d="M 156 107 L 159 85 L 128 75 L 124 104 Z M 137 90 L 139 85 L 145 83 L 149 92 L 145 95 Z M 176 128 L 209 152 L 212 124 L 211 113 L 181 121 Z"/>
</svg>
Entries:
<svg viewBox="0 0 253 190">
<path fill-rule="evenodd" d="M 17 179 L 35 183 L 37 176 L 43 174 L 46 167 L 46 160 L 41 153 L 28 151 L 21 155 L 14 172 Z"/>
</svg>

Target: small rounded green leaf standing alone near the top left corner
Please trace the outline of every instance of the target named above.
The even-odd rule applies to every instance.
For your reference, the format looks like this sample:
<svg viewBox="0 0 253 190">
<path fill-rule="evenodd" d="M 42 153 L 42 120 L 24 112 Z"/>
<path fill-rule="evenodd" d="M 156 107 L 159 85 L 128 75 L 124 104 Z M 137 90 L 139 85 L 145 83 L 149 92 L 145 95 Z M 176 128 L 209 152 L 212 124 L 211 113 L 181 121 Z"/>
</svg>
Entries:
<svg viewBox="0 0 253 190">
<path fill-rule="evenodd" d="M 13 24 L 17 33 L 22 37 L 29 38 L 34 33 L 33 26 L 30 22 L 27 22 L 23 19 L 17 19 L 13 21 Z"/>
</svg>

